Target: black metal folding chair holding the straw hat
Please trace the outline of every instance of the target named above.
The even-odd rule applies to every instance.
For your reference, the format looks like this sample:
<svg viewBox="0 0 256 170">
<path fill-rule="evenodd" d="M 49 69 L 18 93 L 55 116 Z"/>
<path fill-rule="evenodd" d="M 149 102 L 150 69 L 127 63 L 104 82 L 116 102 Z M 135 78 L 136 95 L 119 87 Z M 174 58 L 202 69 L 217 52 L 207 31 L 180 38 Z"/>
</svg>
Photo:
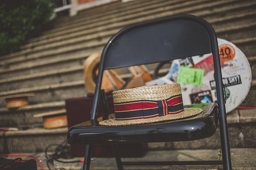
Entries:
<svg viewBox="0 0 256 170">
<path fill-rule="evenodd" d="M 211 104 L 211 109 L 205 111 L 206 116 L 142 125 L 114 127 L 99 125 L 100 118 L 96 118 L 96 111 L 101 94 L 102 74 L 105 69 L 163 62 L 209 53 L 212 53 L 214 60 L 218 102 Z M 92 144 L 113 144 L 119 170 L 122 170 L 123 165 L 145 164 L 223 164 L 225 170 L 230 170 L 230 147 L 224 97 L 218 42 L 215 31 L 207 21 L 183 14 L 137 23 L 123 28 L 105 45 L 99 64 L 91 121 L 70 127 L 67 140 L 70 144 L 87 144 L 83 166 L 83 169 L 86 170 L 90 168 Z M 222 161 L 122 162 L 119 157 L 116 144 L 203 139 L 215 133 L 218 120 L 220 122 Z"/>
</svg>

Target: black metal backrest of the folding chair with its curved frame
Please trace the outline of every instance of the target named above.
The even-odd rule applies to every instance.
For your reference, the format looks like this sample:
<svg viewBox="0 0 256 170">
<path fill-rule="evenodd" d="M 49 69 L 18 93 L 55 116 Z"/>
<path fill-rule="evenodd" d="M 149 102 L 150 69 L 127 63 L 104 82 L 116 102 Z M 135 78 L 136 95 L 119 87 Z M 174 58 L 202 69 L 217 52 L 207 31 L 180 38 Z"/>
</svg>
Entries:
<svg viewBox="0 0 256 170">
<path fill-rule="evenodd" d="M 108 41 L 102 51 L 91 119 L 96 118 L 105 69 L 163 62 L 208 53 L 213 55 L 218 101 L 221 100 L 224 105 L 217 37 L 207 21 L 183 14 L 123 28 Z M 222 107 L 222 110 L 225 113 L 225 107 Z"/>
</svg>

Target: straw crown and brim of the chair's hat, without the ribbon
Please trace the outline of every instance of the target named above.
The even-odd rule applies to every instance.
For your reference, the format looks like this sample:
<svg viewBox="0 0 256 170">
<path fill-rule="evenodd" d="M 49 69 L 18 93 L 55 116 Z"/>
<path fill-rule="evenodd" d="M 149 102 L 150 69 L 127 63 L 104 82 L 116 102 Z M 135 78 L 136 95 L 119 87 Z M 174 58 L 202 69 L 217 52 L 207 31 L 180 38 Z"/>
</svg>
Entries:
<svg viewBox="0 0 256 170">
<path fill-rule="evenodd" d="M 167 84 L 167 85 L 148 85 L 139 88 L 131 88 L 113 92 L 114 103 L 128 102 L 134 100 L 162 100 L 168 99 L 171 96 L 181 94 L 180 84 Z M 168 120 L 183 119 L 191 116 L 198 116 L 202 113 L 201 108 L 184 108 L 183 112 L 177 114 L 169 114 L 166 116 L 136 119 L 136 120 L 122 120 L 116 121 L 115 119 L 108 119 L 99 122 L 103 126 L 122 126 L 122 125 L 137 125 L 153 122 L 161 122 Z"/>
</svg>

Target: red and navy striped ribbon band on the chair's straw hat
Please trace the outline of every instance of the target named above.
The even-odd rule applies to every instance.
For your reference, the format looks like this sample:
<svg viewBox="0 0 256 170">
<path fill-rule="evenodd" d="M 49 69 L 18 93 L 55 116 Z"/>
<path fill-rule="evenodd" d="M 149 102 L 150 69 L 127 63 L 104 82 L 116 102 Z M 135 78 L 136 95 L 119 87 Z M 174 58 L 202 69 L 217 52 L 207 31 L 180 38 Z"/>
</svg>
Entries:
<svg viewBox="0 0 256 170">
<path fill-rule="evenodd" d="M 137 100 L 114 103 L 116 120 L 148 119 L 184 111 L 182 96 L 172 96 L 160 101 Z"/>
</svg>

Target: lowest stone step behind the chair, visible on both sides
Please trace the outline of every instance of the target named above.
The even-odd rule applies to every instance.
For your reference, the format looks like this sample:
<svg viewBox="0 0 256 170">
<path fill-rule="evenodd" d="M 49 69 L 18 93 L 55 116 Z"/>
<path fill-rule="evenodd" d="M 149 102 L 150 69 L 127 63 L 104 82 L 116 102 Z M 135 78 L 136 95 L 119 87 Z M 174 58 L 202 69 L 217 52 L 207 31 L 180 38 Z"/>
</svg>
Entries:
<svg viewBox="0 0 256 170">
<path fill-rule="evenodd" d="M 236 109 L 227 114 L 228 132 L 231 148 L 256 147 L 256 116 L 255 109 Z M 54 135 L 56 134 L 56 135 Z M 7 131 L 0 133 L 0 153 L 43 152 L 52 143 L 65 140 L 67 127 L 44 129 L 35 127 L 26 130 Z M 59 137 L 60 139 L 56 139 Z M 52 139 L 51 139 L 52 138 Z M 56 139 L 56 141 L 55 141 Z M 197 141 L 148 143 L 149 150 L 183 150 L 183 149 L 219 149 L 219 127 L 216 133 Z M 42 143 L 42 144 L 41 144 Z M 36 147 L 35 147 L 36 145 Z M 32 147 L 26 147 L 32 146 Z"/>
</svg>

